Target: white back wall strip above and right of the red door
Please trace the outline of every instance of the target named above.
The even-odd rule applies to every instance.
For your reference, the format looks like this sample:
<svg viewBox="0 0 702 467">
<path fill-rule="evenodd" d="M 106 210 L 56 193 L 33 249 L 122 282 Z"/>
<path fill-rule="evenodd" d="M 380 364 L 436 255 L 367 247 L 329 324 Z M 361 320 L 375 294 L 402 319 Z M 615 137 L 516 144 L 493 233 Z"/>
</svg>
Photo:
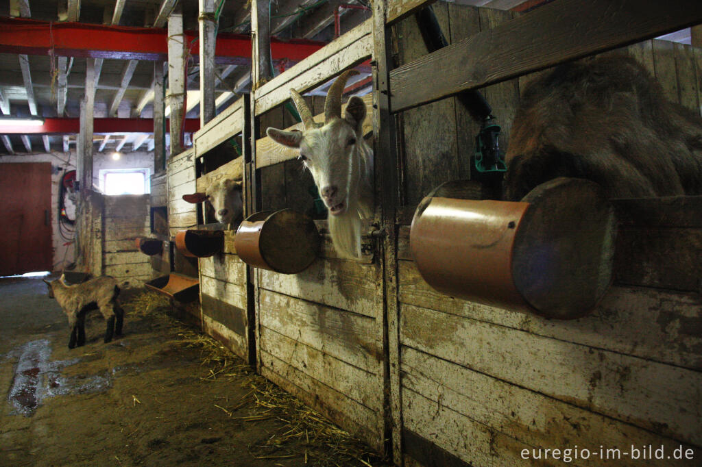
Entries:
<svg viewBox="0 0 702 467">
<path fill-rule="evenodd" d="M 58 194 L 59 183 L 64 174 L 64 170 L 74 170 L 76 164 L 76 154 L 74 151 L 69 153 L 54 154 L 22 154 L 20 156 L 2 156 L 0 163 L 32 163 L 32 162 L 51 162 L 51 225 L 52 236 L 51 242 L 53 245 L 53 270 L 60 271 L 65 266 L 74 262 L 73 243 L 64 245 L 71 238 L 70 234 L 67 238 L 62 238 L 58 230 Z"/>
</svg>

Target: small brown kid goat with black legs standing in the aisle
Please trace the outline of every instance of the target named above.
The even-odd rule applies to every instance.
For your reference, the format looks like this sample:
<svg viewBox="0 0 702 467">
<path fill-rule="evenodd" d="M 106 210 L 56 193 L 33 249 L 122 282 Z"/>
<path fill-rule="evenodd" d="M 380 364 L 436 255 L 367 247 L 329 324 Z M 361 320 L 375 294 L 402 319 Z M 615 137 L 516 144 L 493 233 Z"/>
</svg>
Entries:
<svg viewBox="0 0 702 467">
<path fill-rule="evenodd" d="M 85 316 L 88 311 L 99 309 L 107 321 L 105 343 L 112 341 L 112 334 L 122 334 L 124 310 L 117 302 L 119 287 L 117 280 L 110 276 L 100 276 L 81 284 L 67 285 L 65 276 L 58 280 L 44 280 L 48 285 L 48 296 L 55 298 L 68 316 L 71 337 L 68 348 L 86 343 Z"/>
</svg>

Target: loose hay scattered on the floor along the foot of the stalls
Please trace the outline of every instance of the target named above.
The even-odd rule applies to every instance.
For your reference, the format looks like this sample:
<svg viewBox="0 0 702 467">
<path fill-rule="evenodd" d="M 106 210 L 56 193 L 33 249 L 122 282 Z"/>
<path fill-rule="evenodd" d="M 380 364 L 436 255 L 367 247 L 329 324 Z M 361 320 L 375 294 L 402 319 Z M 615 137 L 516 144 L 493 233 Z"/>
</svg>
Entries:
<svg viewBox="0 0 702 467">
<path fill-rule="evenodd" d="M 219 341 L 185 327 L 171 316 L 168 299 L 145 291 L 130 304 L 132 316 L 164 318 L 179 327 L 180 342 L 201 353 L 201 365 L 208 374 L 201 381 L 234 382 L 251 388 L 232 406 L 215 405 L 232 420 L 256 423 L 269 419 L 282 422 L 282 427 L 249 452 L 257 459 L 291 459 L 313 466 L 390 466 L 387 460 L 372 452 L 364 442 L 342 430 L 322 414 L 307 407 L 301 400 L 276 384 L 253 372 L 241 358 L 234 356 Z M 126 310 L 126 306 L 125 306 Z M 256 407 L 255 414 L 237 411 Z"/>
</svg>

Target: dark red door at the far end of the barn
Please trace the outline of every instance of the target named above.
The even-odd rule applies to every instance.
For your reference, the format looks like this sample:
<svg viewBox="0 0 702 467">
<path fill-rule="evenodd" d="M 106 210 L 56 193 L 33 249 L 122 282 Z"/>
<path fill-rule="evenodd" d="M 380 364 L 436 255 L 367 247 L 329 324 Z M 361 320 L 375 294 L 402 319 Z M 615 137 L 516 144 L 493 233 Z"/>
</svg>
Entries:
<svg viewBox="0 0 702 467">
<path fill-rule="evenodd" d="M 0 163 L 0 276 L 51 271 L 51 163 Z"/>
</svg>

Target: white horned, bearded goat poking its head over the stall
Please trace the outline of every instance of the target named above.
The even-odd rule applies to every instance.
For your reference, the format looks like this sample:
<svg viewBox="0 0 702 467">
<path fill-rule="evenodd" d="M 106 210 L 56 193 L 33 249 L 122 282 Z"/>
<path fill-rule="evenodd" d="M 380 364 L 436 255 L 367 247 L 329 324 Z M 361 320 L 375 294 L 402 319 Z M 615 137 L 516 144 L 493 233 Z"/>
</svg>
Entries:
<svg viewBox="0 0 702 467">
<path fill-rule="evenodd" d="M 343 257 L 359 258 L 362 221 L 373 215 L 373 150 L 363 139 L 363 100 L 351 97 L 341 116 L 341 96 L 352 73 L 343 72 L 329 88 L 324 124 L 314 122 L 303 97 L 291 89 L 305 130 L 268 128 L 266 133 L 278 144 L 300 149 L 299 158 L 312 172 L 329 210 L 329 234 L 334 248 Z"/>
</svg>

